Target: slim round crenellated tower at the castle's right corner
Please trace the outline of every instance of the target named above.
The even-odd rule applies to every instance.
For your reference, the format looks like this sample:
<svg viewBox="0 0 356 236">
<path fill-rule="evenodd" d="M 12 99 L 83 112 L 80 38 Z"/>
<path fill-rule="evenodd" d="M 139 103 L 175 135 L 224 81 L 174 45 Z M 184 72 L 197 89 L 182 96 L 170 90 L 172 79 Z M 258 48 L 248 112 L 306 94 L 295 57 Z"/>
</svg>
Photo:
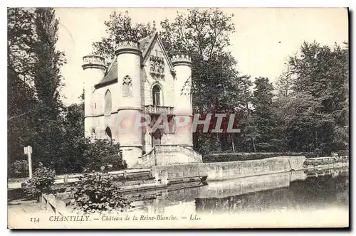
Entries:
<svg viewBox="0 0 356 236">
<path fill-rule="evenodd" d="M 174 114 L 176 120 L 189 119 L 189 126 L 177 127 L 176 144 L 192 147 L 192 60 L 188 55 L 174 55 L 172 65 L 176 73 L 174 80 Z"/>
</svg>

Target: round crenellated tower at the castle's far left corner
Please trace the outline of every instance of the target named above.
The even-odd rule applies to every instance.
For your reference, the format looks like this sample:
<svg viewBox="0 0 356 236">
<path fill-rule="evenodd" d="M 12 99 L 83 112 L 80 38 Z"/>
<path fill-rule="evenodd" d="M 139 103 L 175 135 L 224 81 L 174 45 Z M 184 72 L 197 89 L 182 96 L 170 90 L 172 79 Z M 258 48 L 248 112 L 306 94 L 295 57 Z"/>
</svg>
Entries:
<svg viewBox="0 0 356 236">
<path fill-rule="evenodd" d="M 105 60 L 98 55 L 86 55 L 83 57 L 84 70 L 84 129 L 85 136 L 91 136 L 93 128 L 93 92 L 94 85 L 103 79 L 106 71 Z"/>
</svg>

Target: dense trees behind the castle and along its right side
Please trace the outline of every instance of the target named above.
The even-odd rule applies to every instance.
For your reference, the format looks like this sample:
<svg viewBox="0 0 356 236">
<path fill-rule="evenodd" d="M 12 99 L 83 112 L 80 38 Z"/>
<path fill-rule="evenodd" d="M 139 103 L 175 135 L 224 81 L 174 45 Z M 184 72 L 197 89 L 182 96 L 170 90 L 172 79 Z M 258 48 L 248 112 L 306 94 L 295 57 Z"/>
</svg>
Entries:
<svg viewBox="0 0 356 236">
<path fill-rule="evenodd" d="M 273 86 L 266 77 L 240 75 L 228 50 L 233 15 L 219 9 L 189 9 L 161 22 L 159 35 L 169 56 L 192 58 L 194 113 L 231 112 L 239 134 L 194 133 L 194 149 L 211 151 L 312 151 L 326 155 L 348 149 L 348 47 L 306 43 L 290 57 Z M 94 53 L 112 58 L 114 45 L 152 32 L 150 23 L 132 24 L 113 12 L 108 37 Z M 130 32 L 125 34 L 125 32 Z M 110 45 L 108 44 L 110 42 Z M 302 43 L 302 42 L 301 42 Z"/>
</svg>

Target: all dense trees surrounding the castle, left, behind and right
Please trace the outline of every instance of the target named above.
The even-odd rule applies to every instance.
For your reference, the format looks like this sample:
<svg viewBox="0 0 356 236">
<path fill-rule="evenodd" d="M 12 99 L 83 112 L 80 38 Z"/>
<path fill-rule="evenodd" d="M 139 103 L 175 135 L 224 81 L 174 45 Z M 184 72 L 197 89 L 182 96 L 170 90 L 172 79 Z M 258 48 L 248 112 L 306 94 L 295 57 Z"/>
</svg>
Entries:
<svg viewBox="0 0 356 236">
<path fill-rule="evenodd" d="M 63 52 L 56 49 L 58 19 L 51 8 L 9 8 L 8 167 L 9 177 L 28 173 L 23 146 L 33 147 L 33 168 L 43 163 L 56 173 L 80 173 L 100 166 L 125 168 L 118 144 L 84 138 L 83 102 L 61 102 Z M 214 152 L 313 152 L 349 149 L 348 45 L 302 43 L 272 85 L 268 78 L 241 75 L 229 52 L 234 16 L 219 9 L 189 9 L 160 23 L 169 56 L 192 58 L 195 114 L 234 113 L 239 134 L 194 133 L 194 149 Z M 137 41 L 155 31 L 152 23 L 132 23 L 126 12 L 110 15 L 108 36 L 93 53 L 112 59 L 115 43 Z"/>
</svg>

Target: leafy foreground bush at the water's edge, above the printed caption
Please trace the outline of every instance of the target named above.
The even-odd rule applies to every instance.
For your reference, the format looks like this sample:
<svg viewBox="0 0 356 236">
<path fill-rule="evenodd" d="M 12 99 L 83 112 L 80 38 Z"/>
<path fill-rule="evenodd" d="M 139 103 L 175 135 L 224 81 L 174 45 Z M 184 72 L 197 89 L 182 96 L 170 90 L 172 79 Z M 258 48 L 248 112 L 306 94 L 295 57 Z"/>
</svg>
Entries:
<svg viewBox="0 0 356 236">
<path fill-rule="evenodd" d="M 100 172 L 85 173 L 75 186 L 68 189 L 74 209 L 84 213 L 101 213 L 129 208 L 130 203 L 112 178 Z"/>
</svg>

